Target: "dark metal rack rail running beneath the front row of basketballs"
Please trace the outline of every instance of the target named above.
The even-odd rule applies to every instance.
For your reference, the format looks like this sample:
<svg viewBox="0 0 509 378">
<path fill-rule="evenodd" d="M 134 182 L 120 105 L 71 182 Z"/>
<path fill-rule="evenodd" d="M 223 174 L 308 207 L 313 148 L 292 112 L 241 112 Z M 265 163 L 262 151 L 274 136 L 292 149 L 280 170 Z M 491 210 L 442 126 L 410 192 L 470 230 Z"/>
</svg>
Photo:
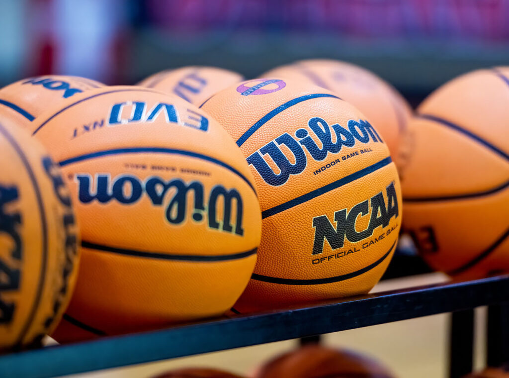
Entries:
<svg viewBox="0 0 509 378">
<path fill-rule="evenodd" d="M 49 377 L 373 326 L 509 302 L 509 276 L 420 286 L 0 357 L 0 376 Z"/>
</svg>

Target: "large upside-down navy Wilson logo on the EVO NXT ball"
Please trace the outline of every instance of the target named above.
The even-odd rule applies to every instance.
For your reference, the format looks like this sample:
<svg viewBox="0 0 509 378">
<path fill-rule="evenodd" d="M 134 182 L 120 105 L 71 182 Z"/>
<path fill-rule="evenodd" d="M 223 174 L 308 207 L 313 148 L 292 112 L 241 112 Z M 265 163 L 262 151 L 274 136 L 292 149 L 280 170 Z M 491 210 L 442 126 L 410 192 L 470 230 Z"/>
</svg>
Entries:
<svg viewBox="0 0 509 378">
<path fill-rule="evenodd" d="M 76 174 L 75 181 L 78 183 L 78 200 L 81 203 L 117 201 L 129 205 L 146 196 L 154 206 L 165 206 L 165 218 L 173 225 L 187 222 L 188 194 L 192 194 L 194 222 L 202 222 L 206 217 L 209 228 L 240 236 L 244 234 L 242 197 L 235 189 L 227 190 L 222 185 L 216 185 L 206 198 L 201 182 L 186 183 L 178 178 L 166 181 L 160 177 L 149 177 L 142 181 L 132 175 L 124 174 L 111 179 L 108 174 L 98 174 L 93 180 L 89 174 Z M 224 203 L 223 213 L 217 219 L 220 199 Z M 232 214 L 234 200 L 236 214 Z M 236 216 L 234 225 L 232 215 Z"/>
</svg>

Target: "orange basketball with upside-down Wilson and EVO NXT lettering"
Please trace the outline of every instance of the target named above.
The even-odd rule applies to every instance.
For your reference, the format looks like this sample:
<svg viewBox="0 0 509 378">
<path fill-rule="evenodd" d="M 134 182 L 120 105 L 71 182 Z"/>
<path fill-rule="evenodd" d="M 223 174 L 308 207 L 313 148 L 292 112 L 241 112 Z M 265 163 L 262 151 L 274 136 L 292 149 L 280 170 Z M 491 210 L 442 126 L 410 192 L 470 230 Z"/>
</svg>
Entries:
<svg viewBox="0 0 509 378">
<path fill-rule="evenodd" d="M 82 225 L 68 341 L 222 314 L 245 288 L 260 205 L 241 152 L 177 96 L 105 87 L 41 115 Z M 73 331 L 74 329 L 74 331 Z"/>
</svg>

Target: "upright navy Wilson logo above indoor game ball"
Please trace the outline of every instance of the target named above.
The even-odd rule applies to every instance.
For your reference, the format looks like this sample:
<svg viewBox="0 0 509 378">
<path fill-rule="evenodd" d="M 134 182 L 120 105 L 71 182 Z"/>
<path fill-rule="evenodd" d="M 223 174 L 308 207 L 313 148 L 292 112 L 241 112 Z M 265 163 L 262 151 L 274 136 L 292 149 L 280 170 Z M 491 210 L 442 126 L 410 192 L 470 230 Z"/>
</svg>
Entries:
<svg viewBox="0 0 509 378">
<path fill-rule="evenodd" d="M 314 160 L 322 161 L 329 153 L 336 154 L 343 146 L 353 147 L 357 141 L 369 143 L 371 138 L 374 142 L 383 143 L 376 130 L 367 121 L 349 120 L 348 128 L 344 128 L 337 123 L 329 126 L 324 119 L 313 117 L 307 125 L 320 140 L 322 147 L 317 145 L 307 129 L 300 128 L 295 131 L 295 138 L 285 132 L 247 157 L 247 163 L 257 170 L 266 183 L 273 186 L 282 185 L 291 175 L 298 175 L 304 171 L 307 166 L 304 149 Z M 281 150 L 281 145 L 285 145 L 292 152 L 295 163 L 290 163 L 290 159 Z M 264 155 L 269 155 L 279 173 L 274 172 Z"/>
</svg>

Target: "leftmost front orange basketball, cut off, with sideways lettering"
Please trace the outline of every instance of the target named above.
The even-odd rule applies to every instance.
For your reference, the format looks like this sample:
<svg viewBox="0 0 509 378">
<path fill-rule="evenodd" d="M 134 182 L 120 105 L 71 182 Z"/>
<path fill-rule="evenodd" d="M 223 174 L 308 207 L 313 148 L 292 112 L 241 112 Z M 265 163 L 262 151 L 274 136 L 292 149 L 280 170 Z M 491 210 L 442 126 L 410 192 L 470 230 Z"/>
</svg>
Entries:
<svg viewBox="0 0 509 378">
<path fill-rule="evenodd" d="M 69 193 L 58 166 L 25 133 L 0 122 L 0 350 L 51 332 L 76 281 Z"/>
</svg>

